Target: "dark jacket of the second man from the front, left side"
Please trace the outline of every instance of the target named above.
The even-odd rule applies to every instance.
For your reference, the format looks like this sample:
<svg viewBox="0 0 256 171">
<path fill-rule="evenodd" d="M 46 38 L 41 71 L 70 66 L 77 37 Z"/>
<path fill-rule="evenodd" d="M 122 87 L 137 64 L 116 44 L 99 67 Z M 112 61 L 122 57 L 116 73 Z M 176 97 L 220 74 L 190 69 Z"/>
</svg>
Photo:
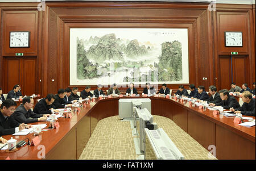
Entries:
<svg viewBox="0 0 256 171">
<path fill-rule="evenodd" d="M 35 114 L 31 109 L 27 111 L 23 104 L 20 104 L 13 113 L 14 119 L 19 123 L 38 122 L 38 118 L 42 116 L 42 114 Z"/>
</svg>

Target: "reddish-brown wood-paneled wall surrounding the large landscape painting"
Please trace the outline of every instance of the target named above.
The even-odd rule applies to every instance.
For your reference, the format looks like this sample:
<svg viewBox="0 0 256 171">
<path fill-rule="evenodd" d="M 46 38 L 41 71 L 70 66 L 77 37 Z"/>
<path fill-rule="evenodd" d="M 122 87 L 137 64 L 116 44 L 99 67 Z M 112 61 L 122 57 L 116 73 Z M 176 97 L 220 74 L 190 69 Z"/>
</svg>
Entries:
<svg viewBox="0 0 256 171">
<path fill-rule="evenodd" d="M 9 48 L 9 31 L 20 29 L 31 31 L 31 47 L 19 52 L 23 52 L 24 57 L 36 57 L 36 92 L 33 94 L 46 95 L 56 93 L 59 88 L 72 87 L 69 85 L 69 29 L 74 27 L 188 28 L 191 84 L 204 85 L 206 89 L 210 85 L 228 89 L 230 81 L 221 76 L 221 70 L 226 68 L 220 61 L 231 51 L 242 55 L 240 58 L 245 57 L 240 59 L 246 66 L 243 80 L 249 86 L 255 81 L 255 5 L 217 5 L 211 11 L 205 3 L 47 2 L 43 4 L 43 11 L 38 11 L 38 5 L 0 3 L 0 87 L 3 90 L 7 90 L 3 82 L 6 76 L 3 59 L 18 52 Z M 242 31 L 243 47 L 225 47 L 224 31 Z M 239 71 L 236 70 L 236 77 L 242 76 Z M 22 69 L 19 72 L 23 72 Z M 168 86 L 175 91 L 179 85 Z M 85 86 L 78 87 L 81 91 Z M 96 85 L 92 86 L 95 88 Z"/>
</svg>

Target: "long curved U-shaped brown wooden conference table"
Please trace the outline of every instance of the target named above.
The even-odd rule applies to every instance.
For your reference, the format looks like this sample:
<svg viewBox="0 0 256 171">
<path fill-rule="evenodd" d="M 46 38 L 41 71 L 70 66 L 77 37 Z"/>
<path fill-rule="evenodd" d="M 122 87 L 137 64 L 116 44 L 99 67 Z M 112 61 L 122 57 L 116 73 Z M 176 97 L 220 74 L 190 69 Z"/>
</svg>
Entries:
<svg viewBox="0 0 256 171">
<path fill-rule="evenodd" d="M 17 142 L 39 138 L 36 146 L 26 145 L 18 151 L 7 153 L 0 151 L 0 159 L 38 160 L 38 159 L 79 159 L 86 143 L 99 120 L 118 115 L 120 98 L 150 98 L 151 114 L 172 119 L 177 126 L 193 137 L 205 149 L 216 149 L 217 159 L 254 159 L 255 160 L 255 126 L 244 127 L 234 123 L 234 117 L 214 114 L 213 110 L 200 109 L 186 100 L 174 97 L 112 97 L 92 99 L 82 103 L 81 107 L 72 109 L 71 118 L 58 118 L 59 128 L 42 131 L 38 137 L 34 134 L 26 136 L 5 135 Z M 255 116 L 250 116 L 255 119 Z M 245 120 L 246 121 L 246 120 Z M 49 122 L 38 122 L 32 124 Z M 47 128 L 46 127 L 46 128 Z M 213 146 L 214 145 L 214 146 Z"/>
</svg>

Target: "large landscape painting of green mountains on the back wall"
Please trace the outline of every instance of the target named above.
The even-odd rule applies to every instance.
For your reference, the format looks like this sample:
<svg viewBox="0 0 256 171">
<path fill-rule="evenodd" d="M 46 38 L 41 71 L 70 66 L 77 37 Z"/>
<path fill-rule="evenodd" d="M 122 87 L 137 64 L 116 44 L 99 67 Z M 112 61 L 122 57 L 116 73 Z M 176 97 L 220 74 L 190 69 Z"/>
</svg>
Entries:
<svg viewBox="0 0 256 171">
<path fill-rule="evenodd" d="M 71 28 L 70 85 L 188 84 L 187 28 Z"/>
</svg>

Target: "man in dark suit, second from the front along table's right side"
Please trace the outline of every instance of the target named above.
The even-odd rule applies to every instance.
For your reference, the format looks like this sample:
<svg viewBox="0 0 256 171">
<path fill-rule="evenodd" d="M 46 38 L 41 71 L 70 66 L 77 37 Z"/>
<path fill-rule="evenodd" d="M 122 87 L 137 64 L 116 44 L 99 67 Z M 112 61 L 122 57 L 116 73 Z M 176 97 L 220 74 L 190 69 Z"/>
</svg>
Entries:
<svg viewBox="0 0 256 171">
<path fill-rule="evenodd" d="M 230 109 L 231 107 L 234 109 L 240 108 L 237 99 L 233 95 L 229 95 L 228 90 L 222 89 L 218 93 L 220 93 L 222 101 L 220 103 L 211 103 L 210 106 L 222 106 L 224 109 Z"/>
</svg>

